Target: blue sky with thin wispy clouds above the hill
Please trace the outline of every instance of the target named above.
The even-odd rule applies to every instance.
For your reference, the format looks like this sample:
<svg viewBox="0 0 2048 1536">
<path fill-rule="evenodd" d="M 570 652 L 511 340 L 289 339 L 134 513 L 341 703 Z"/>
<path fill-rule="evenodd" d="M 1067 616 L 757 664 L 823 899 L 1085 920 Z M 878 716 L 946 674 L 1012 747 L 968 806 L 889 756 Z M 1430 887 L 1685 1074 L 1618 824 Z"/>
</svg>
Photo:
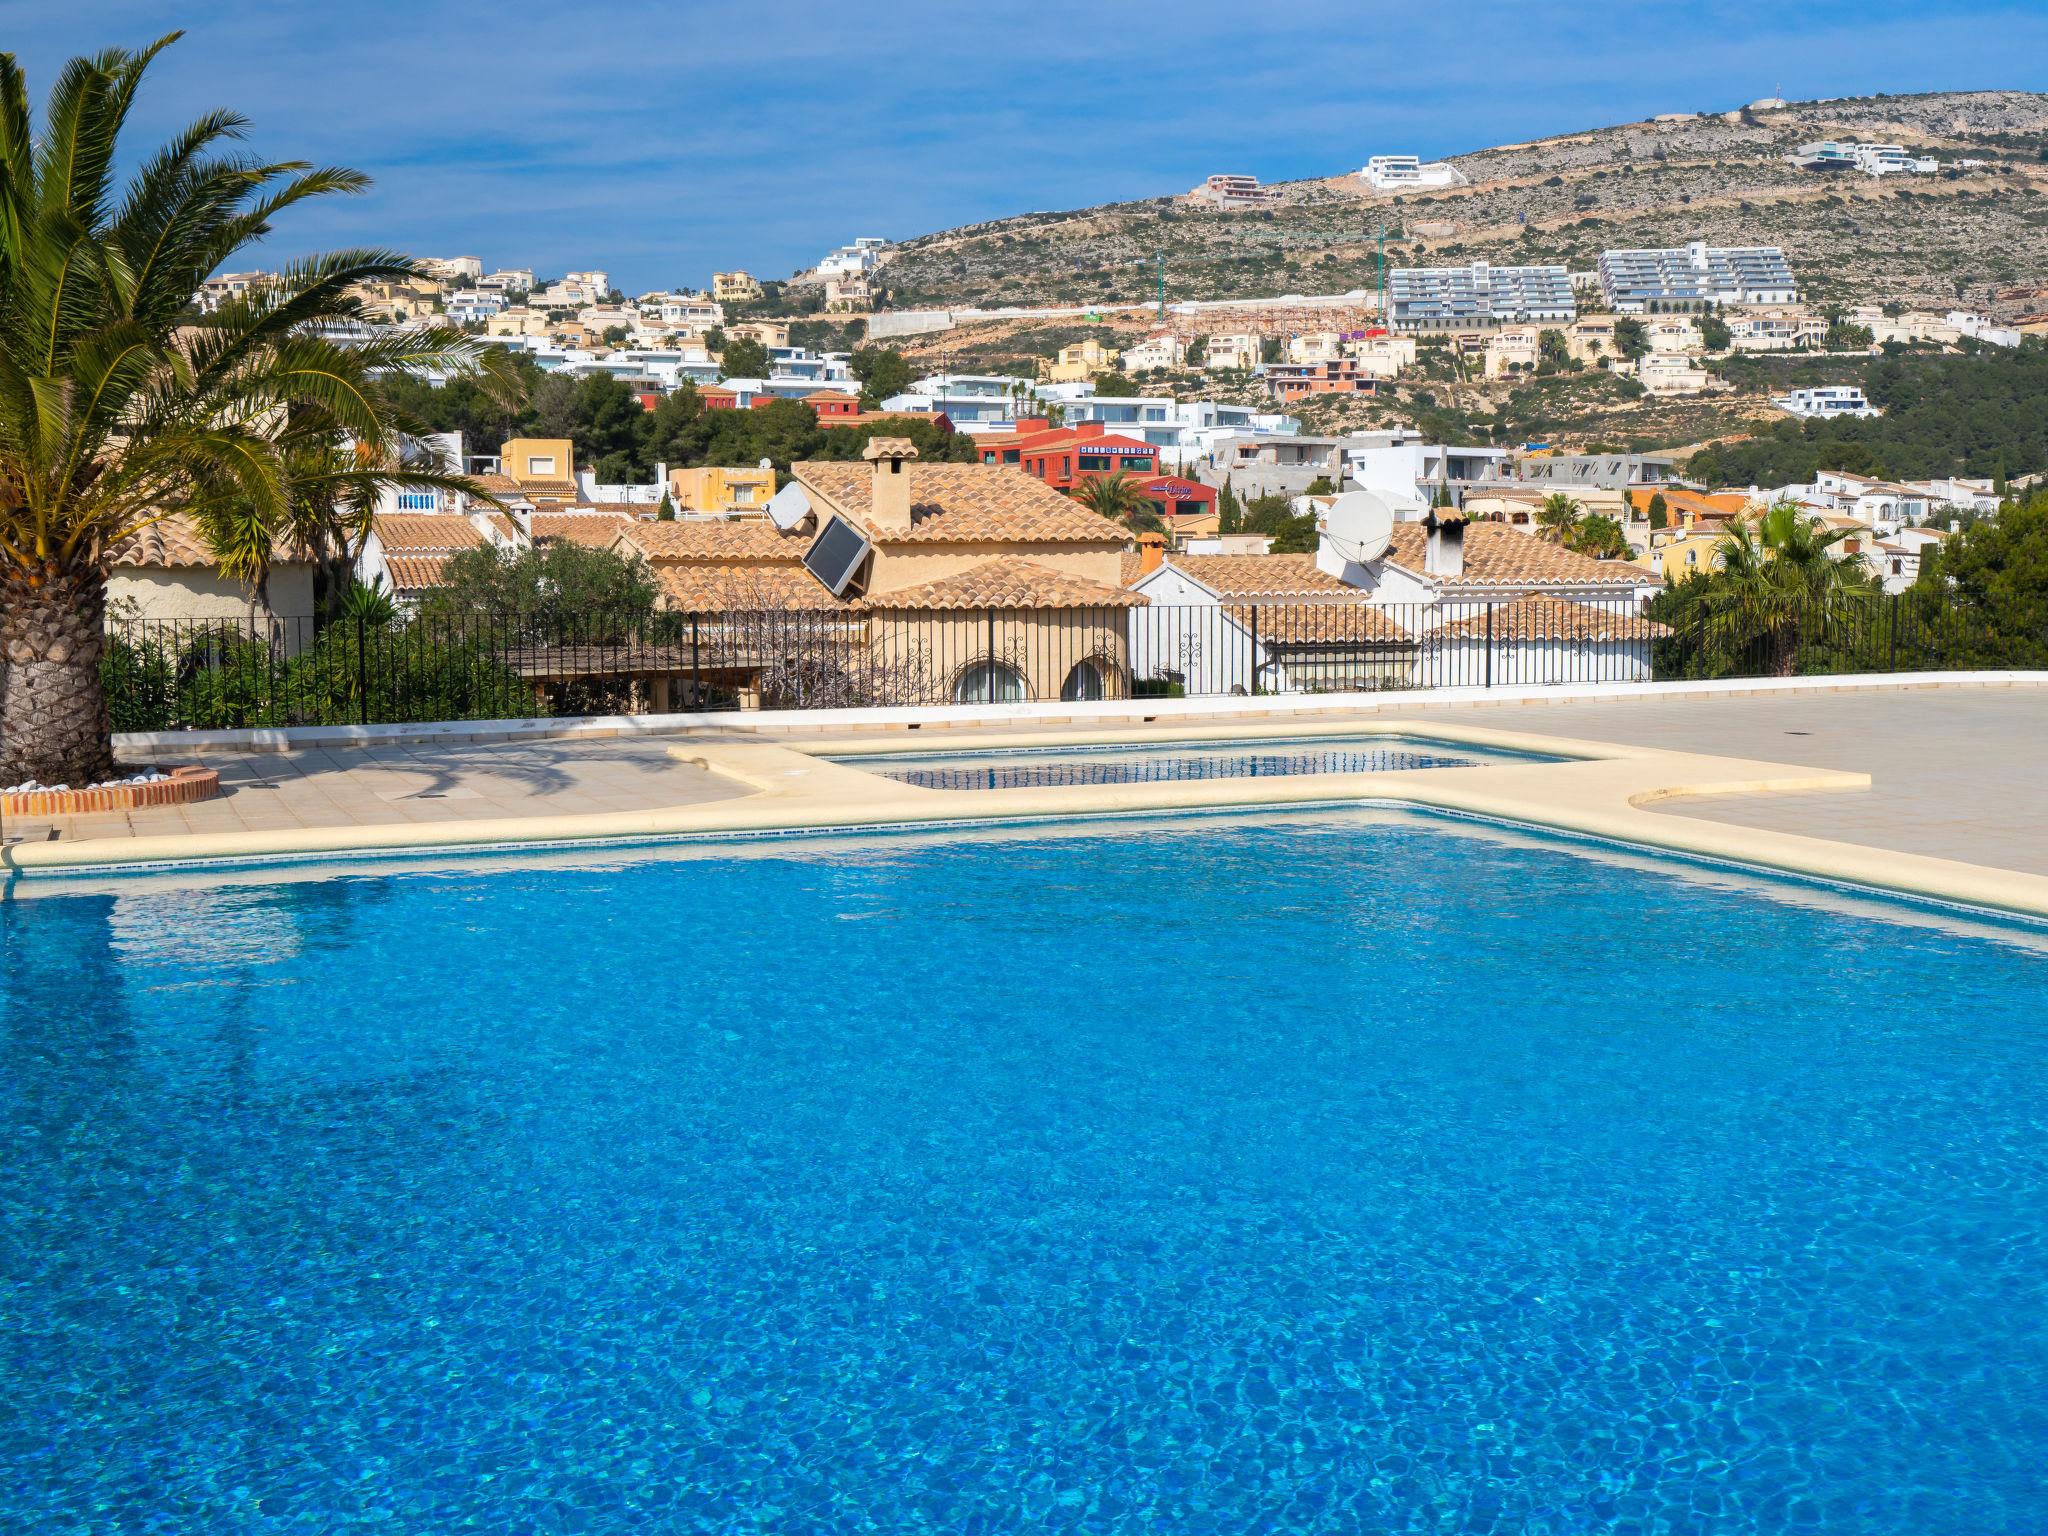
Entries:
<svg viewBox="0 0 2048 1536">
<path fill-rule="evenodd" d="M 233 106 L 260 152 L 377 178 L 268 254 L 469 252 L 631 291 L 1217 170 L 1327 176 L 1778 90 L 2048 88 L 2040 0 L 0 0 L 37 96 L 72 53 L 174 27 L 141 137 Z"/>
</svg>

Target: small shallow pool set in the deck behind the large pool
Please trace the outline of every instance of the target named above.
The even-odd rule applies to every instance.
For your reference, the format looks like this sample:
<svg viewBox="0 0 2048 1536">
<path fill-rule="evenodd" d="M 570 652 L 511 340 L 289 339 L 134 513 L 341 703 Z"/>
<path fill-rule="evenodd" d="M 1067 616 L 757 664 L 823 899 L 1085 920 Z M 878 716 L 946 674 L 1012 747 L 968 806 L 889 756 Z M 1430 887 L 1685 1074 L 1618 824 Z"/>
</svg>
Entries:
<svg viewBox="0 0 2048 1536">
<path fill-rule="evenodd" d="M 831 762 L 846 762 L 922 788 L 1044 788 L 1055 784 L 1159 784 L 1190 778 L 1389 774 L 1407 768 L 1475 768 L 1487 762 L 1561 762 L 1561 758 L 1413 735 L 1362 735 L 848 754 L 831 758 Z"/>
</svg>

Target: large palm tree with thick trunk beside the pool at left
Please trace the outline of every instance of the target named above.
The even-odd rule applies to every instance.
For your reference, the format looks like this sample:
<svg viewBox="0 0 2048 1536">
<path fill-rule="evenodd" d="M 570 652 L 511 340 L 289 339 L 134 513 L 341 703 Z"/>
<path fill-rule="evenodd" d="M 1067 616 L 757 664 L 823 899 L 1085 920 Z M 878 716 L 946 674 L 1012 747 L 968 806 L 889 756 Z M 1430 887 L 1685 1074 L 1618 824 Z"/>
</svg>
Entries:
<svg viewBox="0 0 2048 1536">
<path fill-rule="evenodd" d="M 150 61 L 172 41 L 72 59 L 41 133 L 0 53 L 0 782 L 94 782 L 113 770 L 98 662 L 109 551 L 166 516 L 193 520 L 225 575 L 260 590 L 287 541 L 346 541 L 389 485 L 475 487 L 420 459 L 379 377 L 479 367 L 438 328 L 319 334 L 360 313 L 350 289 L 412 276 L 344 250 L 193 324 L 205 276 L 352 170 L 227 147 L 246 121 L 207 113 L 115 182 Z"/>
</svg>

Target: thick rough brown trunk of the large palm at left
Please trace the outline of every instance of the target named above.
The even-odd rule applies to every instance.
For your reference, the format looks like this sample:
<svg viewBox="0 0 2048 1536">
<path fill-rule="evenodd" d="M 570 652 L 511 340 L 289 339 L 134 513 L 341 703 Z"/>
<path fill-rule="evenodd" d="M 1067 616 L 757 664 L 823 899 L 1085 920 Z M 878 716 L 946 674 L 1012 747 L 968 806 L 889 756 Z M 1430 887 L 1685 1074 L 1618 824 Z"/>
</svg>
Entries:
<svg viewBox="0 0 2048 1536">
<path fill-rule="evenodd" d="M 0 784 L 98 784 L 115 774 L 100 684 L 106 571 L 0 561 Z"/>
</svg>

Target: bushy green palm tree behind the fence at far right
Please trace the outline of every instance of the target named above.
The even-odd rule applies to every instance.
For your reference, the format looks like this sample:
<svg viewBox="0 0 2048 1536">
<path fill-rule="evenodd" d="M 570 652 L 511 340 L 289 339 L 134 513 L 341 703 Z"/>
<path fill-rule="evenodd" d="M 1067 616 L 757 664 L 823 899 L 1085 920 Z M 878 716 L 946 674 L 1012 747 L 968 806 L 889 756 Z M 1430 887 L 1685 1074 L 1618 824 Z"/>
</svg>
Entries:
<svg viewBox="0 0 2048 1536">
<path fill-rule="evenodd" d="M 1829 528 L 1796 502 L 1778 502 L 1761 516 L 1737 518 L 1714 545 L 1718 569 L 1704 604 L 1749 631 L 1761 629 L 1769 674 L 1798 672 L 1800 627 L 1823 627 L 1878 592 L 1868 567 L 1837 545 L 1855 528 Z"/>
</svg>

